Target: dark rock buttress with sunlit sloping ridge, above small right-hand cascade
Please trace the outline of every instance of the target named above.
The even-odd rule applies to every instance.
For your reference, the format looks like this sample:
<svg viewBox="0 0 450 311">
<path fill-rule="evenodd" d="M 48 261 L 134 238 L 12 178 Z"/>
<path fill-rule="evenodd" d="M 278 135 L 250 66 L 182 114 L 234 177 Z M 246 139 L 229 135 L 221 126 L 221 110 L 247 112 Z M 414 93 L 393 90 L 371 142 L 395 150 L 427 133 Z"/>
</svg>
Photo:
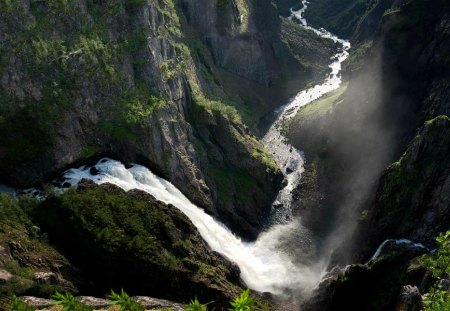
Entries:
<svg viewBox="0 0 450 311">
<path fill-rule="evenodd" d="M 425 244 L 450 225 L 450 119 L 426 122 L 402 158 L 383 174 L 364 235 L 369 247 L 384 237 L 405 237 Z M 399 223 L 397 220 L 402 219 Z"/>
</svg>

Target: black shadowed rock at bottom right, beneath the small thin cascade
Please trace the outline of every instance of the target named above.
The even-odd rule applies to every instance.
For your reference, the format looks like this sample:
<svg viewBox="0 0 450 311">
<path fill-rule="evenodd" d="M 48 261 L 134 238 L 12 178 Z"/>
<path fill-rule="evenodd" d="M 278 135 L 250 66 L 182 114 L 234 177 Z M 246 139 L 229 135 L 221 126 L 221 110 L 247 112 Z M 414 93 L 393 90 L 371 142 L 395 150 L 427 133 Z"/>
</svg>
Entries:
<svg viewBox="0 0 450 311">
<path fill-rule="evenodd" d="M 409 261 L 423 250 L 398 247 L 366 265 L 355 264 L 325 277 L 301 310 L 395 310 L 399 297 L 405 307 L 420 305 L 420 293 L 405 290 Z M 414 284 L 420 285 L 420 284 Z M 410 287 L 408 287 L 409 289 Z M 418 303 L 418 305 L 416 304 Z"/>
</svg>

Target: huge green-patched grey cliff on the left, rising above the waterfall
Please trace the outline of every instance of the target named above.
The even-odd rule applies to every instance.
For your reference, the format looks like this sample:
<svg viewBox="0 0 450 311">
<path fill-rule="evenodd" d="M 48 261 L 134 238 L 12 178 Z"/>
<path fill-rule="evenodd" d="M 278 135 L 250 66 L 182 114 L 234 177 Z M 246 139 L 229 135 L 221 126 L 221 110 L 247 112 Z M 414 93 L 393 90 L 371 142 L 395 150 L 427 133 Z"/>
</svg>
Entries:
<svg viewBox="0 0 450 311">
<path fill-rule="evenodd" d="M 233 99 L 216 72 L 261 88 L 279 78 L 282 48 L 269 2 L 1 6 L 2 182 L 36 185 L 108 154 L 148 165 L 255 236 L 282 176 L 225 104 Z M 237 198 L 242 183 L 245 200 Z"/>
</svg>

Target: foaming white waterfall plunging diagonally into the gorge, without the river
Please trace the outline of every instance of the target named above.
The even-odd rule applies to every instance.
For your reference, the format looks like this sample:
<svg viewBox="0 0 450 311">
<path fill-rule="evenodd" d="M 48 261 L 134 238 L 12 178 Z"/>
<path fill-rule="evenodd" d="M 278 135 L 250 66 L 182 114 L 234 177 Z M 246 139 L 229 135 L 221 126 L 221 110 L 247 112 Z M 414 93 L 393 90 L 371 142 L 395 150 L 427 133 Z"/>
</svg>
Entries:
<svg viewBox="0 0 450 311">
<path fill-rule="evenodd" d="M 286 289 L 311 288 L 314 285 L 311 282 L 313 272 L 309 268 L 295 265 L 287 255 L 277 250 L 279 235 L 286 234 L 292 224 L 275 226 L 270 232 L 261 234 L 256 242 L 245 243 L 191 203 L 174 185 L 144 166 L 133 165 L 126 169 L 122 163 L 105 158 L 95 168 L 98 170 L 96 175 L 91 174 L 90 167 L 70 169 L 64 174 L 65 181 L 76 185 L 86 178 L 97 184 L 111 183 L 126 191 L 139 189 L 159 201 L 174 205 L 192 221 L 211 249 L 239 266 L 248 287 L 281 295 Z"/>
</svg>

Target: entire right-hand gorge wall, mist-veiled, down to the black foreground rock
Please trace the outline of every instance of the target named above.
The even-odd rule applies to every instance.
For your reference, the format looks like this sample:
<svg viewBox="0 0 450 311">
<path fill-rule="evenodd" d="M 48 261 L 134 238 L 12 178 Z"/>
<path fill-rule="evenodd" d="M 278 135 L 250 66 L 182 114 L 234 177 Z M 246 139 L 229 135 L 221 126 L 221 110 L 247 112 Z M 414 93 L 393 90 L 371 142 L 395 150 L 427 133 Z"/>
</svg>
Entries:
<svg viewBox="0 0 450 311">
<path fill-rule="evenodd" d="M 307 217 L 317 217 L 311 211 L 319 211 L 322 218 L 312 219 L 313 225 L 331 216 L 346 226 L 332 231 L 332 238 L 347 234 L 332 265 L 367 262 L 386 239 L 409 238 L 433 249 L 434 238 L 449 227 L 449 101 L 444 80 L 450 68 L 444 55 L 449 55 L 450 7 L 445 1 L 396 4 L 384 14 L 347 90 L 325 106 L 326 113 L 314 112 L 320 102 L 313 104 L 289 127 L 290 138 L 306 147 L 312 162 L 305 174 L 312 182 L 299 192 L 304 196 L 309 190 L 317 198 L 300 208 Z M 305 141 L 311 131 L 318 137 Z M 426 269 L 411 270 L 417 250 L 421 248 L 388 247 L 375 262 L 330 275 L 307 307 L 393 310 L 402 286 L 419 286 L 425 280 Z"/>
</svg>

